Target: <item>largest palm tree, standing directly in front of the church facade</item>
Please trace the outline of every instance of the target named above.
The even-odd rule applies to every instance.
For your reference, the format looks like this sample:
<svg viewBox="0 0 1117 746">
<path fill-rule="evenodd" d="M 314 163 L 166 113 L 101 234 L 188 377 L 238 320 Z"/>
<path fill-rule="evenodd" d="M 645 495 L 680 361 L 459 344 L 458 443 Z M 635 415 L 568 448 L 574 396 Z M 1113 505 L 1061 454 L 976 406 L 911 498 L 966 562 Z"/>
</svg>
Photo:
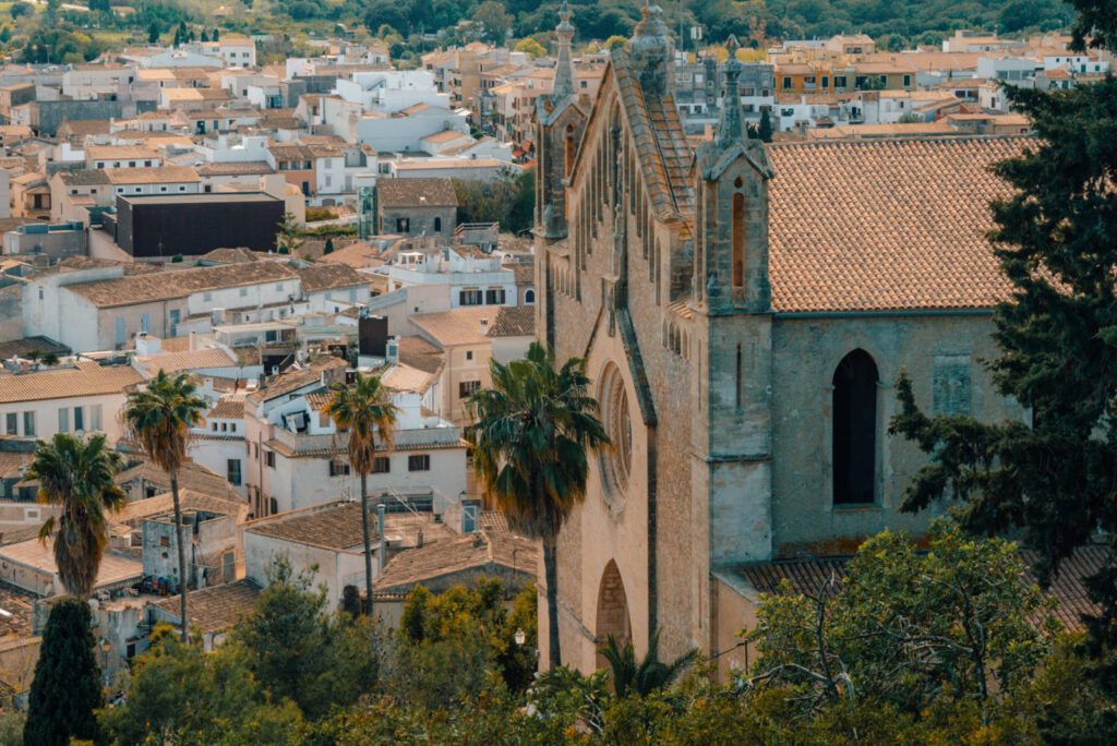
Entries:
<svg viewBox="0 0 1117 746">
<path fill-rule="evenodd" d="M 586 391 L 585 361 L 571 357 L 555 370 L 554 351 L 533 342 L 527 356 L 507 365 L 489 362 L 493 388 L 469 399 L 474 418 L 466 437 L 474 468 L 513 530 L 542 539 L 547 586 L 550 660 L 558 647 L 558 529 L 585 497 L 586 450 L 609 444 Z"/>
</svg>

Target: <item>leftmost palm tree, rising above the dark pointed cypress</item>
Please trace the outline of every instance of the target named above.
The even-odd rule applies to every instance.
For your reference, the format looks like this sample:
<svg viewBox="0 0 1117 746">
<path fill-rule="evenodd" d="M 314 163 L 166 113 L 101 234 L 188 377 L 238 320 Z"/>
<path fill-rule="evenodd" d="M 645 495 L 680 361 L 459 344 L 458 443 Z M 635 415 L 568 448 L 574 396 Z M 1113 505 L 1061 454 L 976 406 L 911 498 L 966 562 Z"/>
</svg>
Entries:
<svg viewBox="0 0 1117 746">
<path fill-rule="evenodd" d="M 66 591 L 87 599 L 97 582 L 97 570 L 108 544 L 105 510 L 124 504 L 124 491 L 114 477 L 123 466 L 120 453 L 105 447 L 105 436 L 82 440 L 56 433 L 48 443 L 39 440 L 23 481 L 39 482 L 39 501 L 60 505 L 60 516 L 50 516 L 39 529 L 46 544 L 55 534 L 55 564 Z"/>
</svg>

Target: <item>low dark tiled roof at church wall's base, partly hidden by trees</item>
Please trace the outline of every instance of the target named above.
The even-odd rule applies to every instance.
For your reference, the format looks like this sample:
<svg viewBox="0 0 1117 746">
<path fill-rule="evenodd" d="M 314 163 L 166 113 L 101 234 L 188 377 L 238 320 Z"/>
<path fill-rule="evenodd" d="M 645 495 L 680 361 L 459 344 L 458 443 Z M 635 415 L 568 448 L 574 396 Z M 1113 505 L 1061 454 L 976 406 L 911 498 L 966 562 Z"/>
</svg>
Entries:
<svg viewBox="0 0 1117 746">
<path fill-rule="evenodd" d="M 1033 552 L 1021 551 L 1020 560 L 1025 566 L 1030 566 L 1037 561 L 1037 555 Z M 831 576 L 839 581 L 844 578 L 848 562 L 848 557 L 794 560 L 739 567 L 736 572 L 761 593 L 777 593 L 780 583 L 787 580 L 792 593 L 805 594 L 818 593 Z M 1080 547 L 1063 562 L 1049 592 L 1059 601 L 1056 616 L 1068 629 L 1081 629 L 1079 615 L 1097 611 L 1086 595 L 1082 578 L 1092 575 L 1108 562 L 1109 551 L 1102 546 Z M 1024 570 L 1021 581 L 1034 583 L 1035 577 L 1029 570 Z"/>
</svg>

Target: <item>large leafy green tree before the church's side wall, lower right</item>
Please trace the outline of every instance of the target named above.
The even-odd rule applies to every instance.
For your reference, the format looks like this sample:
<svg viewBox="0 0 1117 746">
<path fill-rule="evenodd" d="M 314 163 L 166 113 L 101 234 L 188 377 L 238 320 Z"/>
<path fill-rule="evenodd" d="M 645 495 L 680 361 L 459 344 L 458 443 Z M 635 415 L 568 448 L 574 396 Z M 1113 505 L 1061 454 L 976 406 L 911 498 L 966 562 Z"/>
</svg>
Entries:
<svg viewBox="0 0 1117 746">
<path fill-rule="evenodd" d="M 961 699 L 987 723 L 1050 650 L 1035 623 L 1053 631 L 1051 602 L 1023 570 L 1014 544 L 974 541 L 948 519 L 933 523 L 928 552 L 903 533 L 879 534 L 844 582 L 762 600 L 748 634 L 761 672 L 750 683 L 799 687 L 806 711 L 865 700 L 918 715 Z"/>
</svg>

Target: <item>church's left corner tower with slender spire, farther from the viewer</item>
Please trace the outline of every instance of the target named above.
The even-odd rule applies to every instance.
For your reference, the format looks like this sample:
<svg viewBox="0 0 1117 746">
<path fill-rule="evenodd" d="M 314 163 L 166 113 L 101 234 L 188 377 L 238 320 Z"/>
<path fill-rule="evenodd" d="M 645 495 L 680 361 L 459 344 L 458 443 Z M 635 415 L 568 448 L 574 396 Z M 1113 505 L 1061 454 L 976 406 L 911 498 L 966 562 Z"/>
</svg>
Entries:
<svg viewBox="0 0 1117 746">
<path fill-rule="evenodd" d="M 563 0 L 555 27 L 558 61 L 551 93 L 535 105 L 535 278 L 542 290 L 536 297 L 535 328 L 554 345 L 553 278 L 548 247 L 569 236 L 566 187 L 574 156 L 589 118 L 589 101 L 574 86 L 571 42 L 574 26 L 570 6 Z"/>
</svg>

